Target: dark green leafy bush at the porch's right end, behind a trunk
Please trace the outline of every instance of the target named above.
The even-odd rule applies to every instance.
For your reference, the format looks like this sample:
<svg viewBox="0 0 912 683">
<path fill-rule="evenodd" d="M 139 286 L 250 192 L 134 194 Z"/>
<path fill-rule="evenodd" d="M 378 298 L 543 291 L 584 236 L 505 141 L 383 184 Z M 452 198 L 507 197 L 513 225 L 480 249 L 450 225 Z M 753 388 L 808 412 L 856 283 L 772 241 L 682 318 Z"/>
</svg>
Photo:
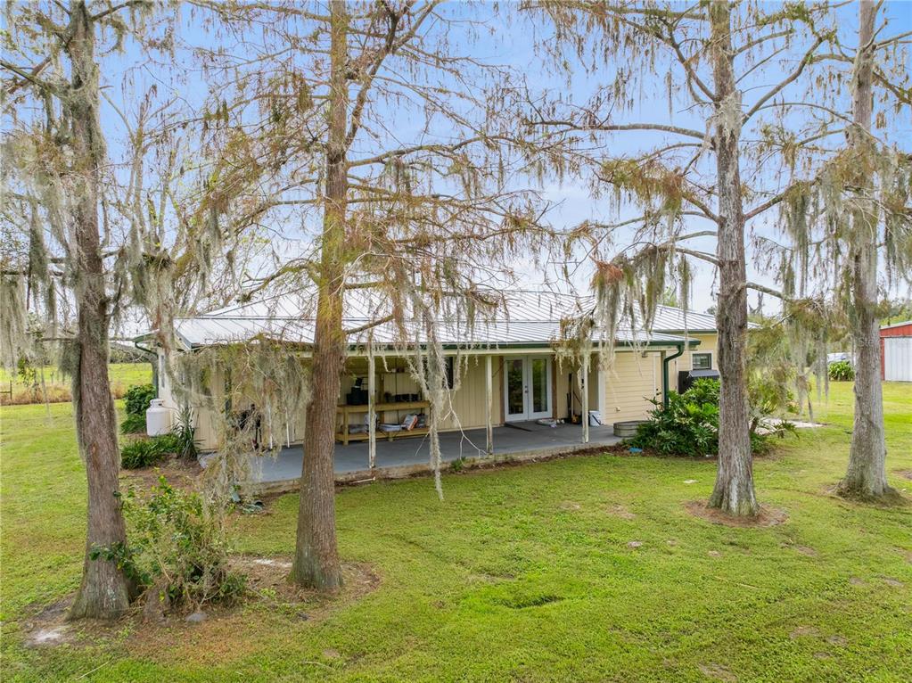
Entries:
<svg viewBox="0 0 912 683">
<path fill-rule="evenodd" d="M 668 407 L 659 400 L 652 400 L 656 408 L 649 412 L 648 422 L 637 428 L 637 435 L 630 440 L 630 445 L 655 450 L 662 455 L 700 457 L 717 454 L 719 388 L 718 379 L 698 379 L 683 394 L 669 391 Z M 775 401 L 767 398 L 770 402 L 765 408 L 758 405 L 751 410 L 759 411 L 759 414 L 768 409 Z M 761 418 L 751 420 L 751 450 L 757 453 L 767 448 L 769 440 L 768 435 L 758 431 L 760 427 L 769 426 Z M 782 423 L 774 431 L 781 436 L 784 431 L 793 431 L 793 425 Z"/>
</svg>

